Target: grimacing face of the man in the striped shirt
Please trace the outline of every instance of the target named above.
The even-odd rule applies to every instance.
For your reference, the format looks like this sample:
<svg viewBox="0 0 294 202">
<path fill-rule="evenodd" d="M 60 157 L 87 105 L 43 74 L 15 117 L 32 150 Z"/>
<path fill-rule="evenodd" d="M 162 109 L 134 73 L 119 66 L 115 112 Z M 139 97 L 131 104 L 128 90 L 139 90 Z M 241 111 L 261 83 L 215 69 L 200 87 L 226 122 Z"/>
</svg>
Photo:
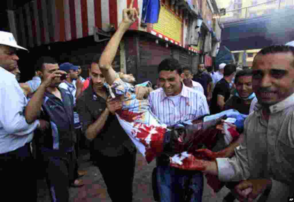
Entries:
<svg viewBox="0 0 294 202">
<path fill-rule="evenodd" d="M 181 77 L 176 70 L 159 72 L 160 87 L 163 88 L 166 96 L 178 95 L 181 92 Z"/>
</svg>

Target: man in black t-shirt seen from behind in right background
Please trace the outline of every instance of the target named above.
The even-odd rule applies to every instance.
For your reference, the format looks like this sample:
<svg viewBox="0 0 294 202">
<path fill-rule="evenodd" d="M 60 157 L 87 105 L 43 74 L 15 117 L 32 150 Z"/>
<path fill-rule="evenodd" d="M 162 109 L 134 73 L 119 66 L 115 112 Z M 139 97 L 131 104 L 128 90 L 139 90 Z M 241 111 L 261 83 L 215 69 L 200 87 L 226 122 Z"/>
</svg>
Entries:
<svg viewBox="0 0 294 202">
<path fill-rule="evenodd" d="M 230 98 L 230 82 L 236 72 L 234 64 L 227 64 L 224 77 L 216 83 L 211 100 L 211 114 L 217 114 L 224 110 L 225 102 Z"/>
</svg>

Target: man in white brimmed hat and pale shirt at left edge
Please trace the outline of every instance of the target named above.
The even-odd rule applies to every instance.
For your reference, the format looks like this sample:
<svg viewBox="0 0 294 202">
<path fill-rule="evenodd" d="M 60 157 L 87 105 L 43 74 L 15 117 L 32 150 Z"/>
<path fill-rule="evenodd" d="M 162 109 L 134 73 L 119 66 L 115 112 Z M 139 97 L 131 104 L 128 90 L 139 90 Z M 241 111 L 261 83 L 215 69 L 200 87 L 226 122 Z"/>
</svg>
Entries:
<svg viewBox="0 0 294 202">
<path fill-rule="evenodd" d="M 36 173 L 30 142 L 33 131 L 43 121 L 27 121 L 25 108 L 28 103 L 14 74 L 18 68 L 17 45 L 13 34 L 0 31 L 0 173 L 1 197 L 9 201 L 35 201 L 37 198 Z M 30 184 L 30 186 L 28 186 Z M 17 193 L 11 193 L 17 185 Z"/>
</svg>

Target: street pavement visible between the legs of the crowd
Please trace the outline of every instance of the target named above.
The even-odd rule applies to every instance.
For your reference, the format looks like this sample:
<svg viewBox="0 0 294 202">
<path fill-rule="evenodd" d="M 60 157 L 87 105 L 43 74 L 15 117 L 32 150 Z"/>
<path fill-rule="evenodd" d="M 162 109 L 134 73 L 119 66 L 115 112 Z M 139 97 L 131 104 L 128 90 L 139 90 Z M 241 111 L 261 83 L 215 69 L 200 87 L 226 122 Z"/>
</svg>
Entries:
<svg viewBox="0 0 294 202">
<path fill-rule="evenodd" d="M 83 150 L 79 157 L 79 170 L 86 170 L 87 174 L 80 179 L 85 186 L 79 188 L 70 188 L 70 202 L 111 202 L 108 196 L 106 185 L 98 168 L 92 165 L 89 160 L 89 153 Z M 136 169 L 133 182 L 133 202 L 155 202 L 151 185 L 151 173 L 155 167 L 155 160 L 148 164 L 140 153 L 137 153 Z M 119 169 L 119 168 L 118 168 Z M 122 173 L 123 175 L 123 173 Z M 49 191 L 45 179 L 39 182 L 38 201 L 50 202 Z M 208 187 L 206 178 L 204 178 L 203 202 L 222 202 L 223 197 L 229 192 L 227 188 L 222 188 L 214 194 Z M 118 188 L 119 194 L 119 188 Z M 123 200 L 122 200 L 123 201 Z"/>
</svg>

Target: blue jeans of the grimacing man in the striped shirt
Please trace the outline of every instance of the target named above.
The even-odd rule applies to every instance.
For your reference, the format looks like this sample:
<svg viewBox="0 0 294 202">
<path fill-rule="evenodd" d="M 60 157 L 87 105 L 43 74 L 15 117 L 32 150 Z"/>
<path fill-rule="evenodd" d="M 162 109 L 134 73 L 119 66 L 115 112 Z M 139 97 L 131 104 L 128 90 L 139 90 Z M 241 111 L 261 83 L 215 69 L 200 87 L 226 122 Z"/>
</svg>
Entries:
<svg viewBox="0 0 294 202">
<path fill-rule="evenodd" d="M 203 173 L 180 170 L 169 165 L 157 166 L 160 202 L 201 202 Z"/>
</svg>

